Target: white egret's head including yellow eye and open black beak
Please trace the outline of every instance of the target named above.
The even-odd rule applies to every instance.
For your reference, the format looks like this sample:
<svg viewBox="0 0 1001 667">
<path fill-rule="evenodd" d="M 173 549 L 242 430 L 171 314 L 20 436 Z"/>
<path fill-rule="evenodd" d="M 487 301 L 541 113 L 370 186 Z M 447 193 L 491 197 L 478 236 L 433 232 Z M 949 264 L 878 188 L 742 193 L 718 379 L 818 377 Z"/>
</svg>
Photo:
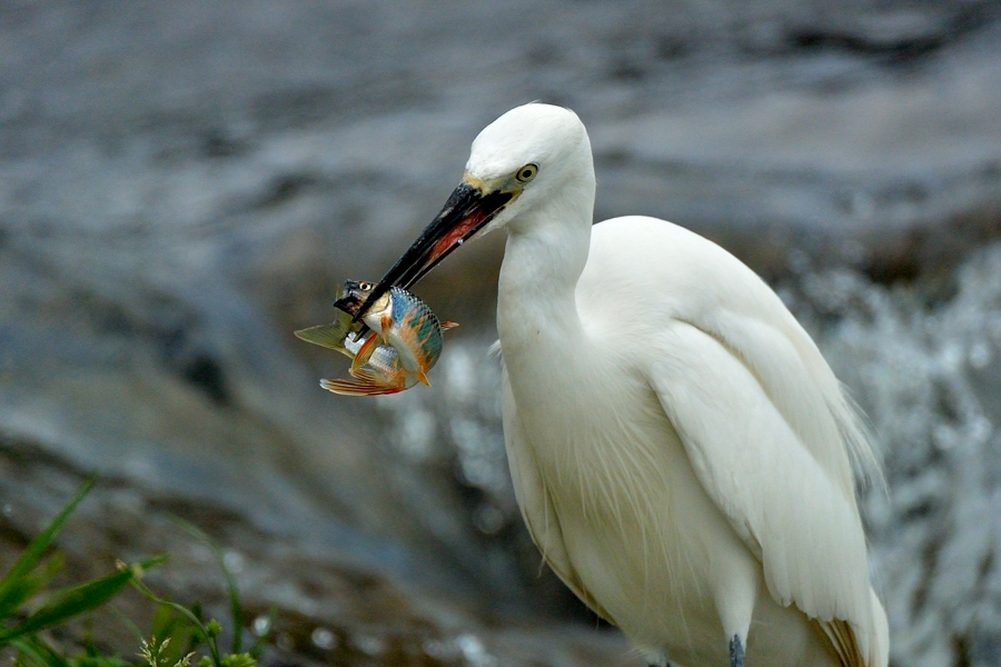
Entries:
<svg viewBox="0 0 1001 667">
<path fill-rule="evenodd" d="M 504 227 L 564 191 L 559 186 L 582 165 L 591 169 L 591 143 L 576 113 L 538 103 L 512 109 L 473 141 L 463 182 L 371 290 L 366 307 L 394 285 L 409 288 L 474 236 Z M 585 187 L 593 188 L 593 179 Z"/>
</svg>

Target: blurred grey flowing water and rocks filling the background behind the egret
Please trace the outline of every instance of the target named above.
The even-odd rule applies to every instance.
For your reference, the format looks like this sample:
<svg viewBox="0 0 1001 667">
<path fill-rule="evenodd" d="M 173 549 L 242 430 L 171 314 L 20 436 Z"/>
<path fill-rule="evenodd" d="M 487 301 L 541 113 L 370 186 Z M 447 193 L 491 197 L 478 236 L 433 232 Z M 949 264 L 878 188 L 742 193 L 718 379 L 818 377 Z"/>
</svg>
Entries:
<svg viewBox="0 0 1001 667">
<path fill-rule="evenodd" d="M 278 606 L 266 663 L 637 665 L 514 504 L 502 239 L 418 289 L 463 325 L 432 389 L 335 397 L 291 336 L 539 99 L 589 129 L 597 219 L 723 243 L 868 411 L 892 664 L 1001 665 L 999 53 L 983 0 L 4 1 L 0 564 L 96 470 L 76 571 L 168 550 L 150 586 L 225 608 L 188 519 Z"/>
</svg>

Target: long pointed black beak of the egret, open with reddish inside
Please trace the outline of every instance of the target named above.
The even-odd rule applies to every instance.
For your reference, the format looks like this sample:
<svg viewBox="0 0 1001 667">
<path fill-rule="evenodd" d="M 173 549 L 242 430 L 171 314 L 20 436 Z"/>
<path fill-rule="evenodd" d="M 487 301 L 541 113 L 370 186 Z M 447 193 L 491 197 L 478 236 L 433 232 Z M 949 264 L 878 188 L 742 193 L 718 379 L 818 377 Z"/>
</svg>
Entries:
<svg viewBox="0 0 1001 667">
<path fill-rule="evenodd" d="M 480 188 L 460 183 L 414 245 L 383 276 L 360 308 L 351 312 L 354 319 L 357 321 L 394 285 L 408 289 L 424 278 L 439 261 L 493 220 L 513 197 L 512 192 L 500 191 L 484 195 Z"/>
</svg>

